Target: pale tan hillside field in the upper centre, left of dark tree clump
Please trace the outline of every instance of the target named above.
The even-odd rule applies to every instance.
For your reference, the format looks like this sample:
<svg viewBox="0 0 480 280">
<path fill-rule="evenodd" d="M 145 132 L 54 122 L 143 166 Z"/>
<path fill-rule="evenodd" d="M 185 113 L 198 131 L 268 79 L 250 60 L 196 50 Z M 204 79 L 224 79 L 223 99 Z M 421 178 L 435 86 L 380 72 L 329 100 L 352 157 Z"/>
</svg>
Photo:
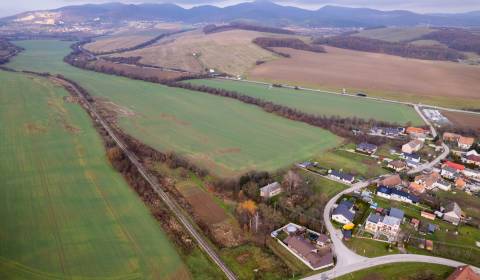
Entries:
<svg viewBox="0 0 480 280">
<path fill-rule="evenodd" d="M 122 56 L 141 56 L 140 62 L 145 64 L 191 72 L 213 68 L 232 75 L 243 75 L 257 60 L 276 58 L 274 54 L 252 43 L 253 39 L 261 36 L 280 35 L 245 30 L 205 35 L 196 30 L 177 36 L 175 40 L 169 38 L 148 48 L 123 53 Z"/>
</svg>

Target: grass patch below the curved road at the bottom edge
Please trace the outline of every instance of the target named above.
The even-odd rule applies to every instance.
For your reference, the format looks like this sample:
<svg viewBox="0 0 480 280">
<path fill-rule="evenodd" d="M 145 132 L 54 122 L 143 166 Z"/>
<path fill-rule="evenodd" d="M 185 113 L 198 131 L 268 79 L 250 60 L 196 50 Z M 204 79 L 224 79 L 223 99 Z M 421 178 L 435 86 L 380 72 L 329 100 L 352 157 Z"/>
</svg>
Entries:
<svg viewBox="0 0 480 280">
<path fill-rule="evenodd" d="M 408 280 L 408 279 L 446 279 L 453 268 L 438 264 L 399 263 L 380 265 L 337 277 L 337 280 Z"/>
</svg>

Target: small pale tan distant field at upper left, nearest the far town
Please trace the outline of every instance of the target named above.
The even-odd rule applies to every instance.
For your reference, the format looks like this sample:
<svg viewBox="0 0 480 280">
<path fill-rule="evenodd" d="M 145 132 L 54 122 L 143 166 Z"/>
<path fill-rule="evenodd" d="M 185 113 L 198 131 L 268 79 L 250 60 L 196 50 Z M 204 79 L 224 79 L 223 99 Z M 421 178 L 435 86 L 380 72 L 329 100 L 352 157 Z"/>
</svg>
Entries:
<svg viewBox="0 0 480 280">
<path fill-rule="evenodd" d="M 158 34 L 157 34 L 158 35 Z M 128 35 L 102 38 L 86 44 L 85 49 L 91 52 L 107 52 L 121 48 L 131 48 L 154 38 L 156 35 Z"/>
</svg>

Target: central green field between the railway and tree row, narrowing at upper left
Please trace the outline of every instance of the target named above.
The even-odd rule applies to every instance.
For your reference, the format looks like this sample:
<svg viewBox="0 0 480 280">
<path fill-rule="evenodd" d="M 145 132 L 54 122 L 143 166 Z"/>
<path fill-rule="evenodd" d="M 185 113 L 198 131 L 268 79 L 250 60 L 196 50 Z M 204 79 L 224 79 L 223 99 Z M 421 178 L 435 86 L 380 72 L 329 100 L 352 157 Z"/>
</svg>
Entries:
<svg viewBox="0 0 480 280">
<path fill-rule="evenodd" d="M 61 73 L 133 115 L 127 133 L 162 151 L 188 156 L 218 175 L 275 170 L 339 144 L 330 132 L 269 114 L 239 101 L 72 67 L 70 42 L 19 41 L 26 51 L 8 65 Z"/>
</svg>

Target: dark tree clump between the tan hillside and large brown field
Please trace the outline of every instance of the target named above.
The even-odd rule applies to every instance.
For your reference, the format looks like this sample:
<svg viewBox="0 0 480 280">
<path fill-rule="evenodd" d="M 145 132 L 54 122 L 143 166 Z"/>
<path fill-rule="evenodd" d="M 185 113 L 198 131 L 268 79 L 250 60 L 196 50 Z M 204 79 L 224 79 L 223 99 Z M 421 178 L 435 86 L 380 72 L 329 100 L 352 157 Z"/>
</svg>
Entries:
<svg viewBox="0 0 480 280">
<path fill-rule="evenodd" d="M 275 47 L 280 48 L 291 48 L 302 51 L 324 53 L 325 49 L 320 45 L 309 45 L 304 41 L 298 38 L 270 38 L 270 37 L 258 37 L 253 39 L 254 44 L 259 47 L 266 49 L 267 51 L 273 52 L 283 57 L 290 57 L 289 54 L 274 50 Z"/>
</svg>

